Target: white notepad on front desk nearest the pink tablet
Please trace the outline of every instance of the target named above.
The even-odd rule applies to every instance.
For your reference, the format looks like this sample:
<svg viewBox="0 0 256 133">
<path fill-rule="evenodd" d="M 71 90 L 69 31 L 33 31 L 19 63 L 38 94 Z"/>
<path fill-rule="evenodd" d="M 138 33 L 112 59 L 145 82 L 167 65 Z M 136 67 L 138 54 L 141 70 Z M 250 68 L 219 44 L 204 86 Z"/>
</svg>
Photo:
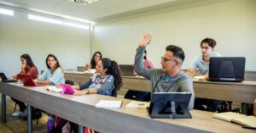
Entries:
<svg viewBox="0 0 256 133">
<path fill-rule="evenodd" d="M 121 100 L 101 100 L 96 103 L 96 108 L 121 108 L 123 101 Z"/>
</svg>

